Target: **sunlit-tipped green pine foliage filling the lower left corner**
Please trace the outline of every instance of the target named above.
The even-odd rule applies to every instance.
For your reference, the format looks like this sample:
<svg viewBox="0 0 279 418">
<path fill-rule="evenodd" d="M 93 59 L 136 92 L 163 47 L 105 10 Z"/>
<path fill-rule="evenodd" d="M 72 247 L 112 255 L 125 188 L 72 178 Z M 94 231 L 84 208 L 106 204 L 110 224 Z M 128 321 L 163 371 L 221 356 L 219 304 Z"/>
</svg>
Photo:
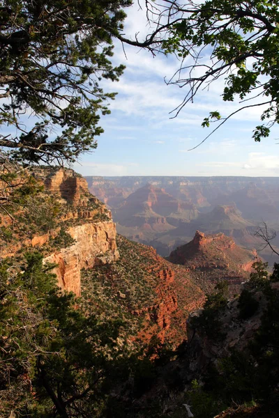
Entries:
<svg viewBox="0 0 279 418">
<path fill-rule="evenodd" d="M 39 253 L 0 270 L 0 417 L 101 417 L 125 358 L 121 320 L 84 314 Z M 119 376 L 118 376 L 119 375 Z"/>
</svg>

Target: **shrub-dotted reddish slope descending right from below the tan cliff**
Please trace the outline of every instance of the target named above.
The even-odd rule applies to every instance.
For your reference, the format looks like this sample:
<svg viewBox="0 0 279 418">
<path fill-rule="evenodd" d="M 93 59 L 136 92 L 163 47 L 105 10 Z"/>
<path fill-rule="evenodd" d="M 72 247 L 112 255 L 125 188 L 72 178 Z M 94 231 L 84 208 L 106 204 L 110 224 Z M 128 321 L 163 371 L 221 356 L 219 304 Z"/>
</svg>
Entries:
<svg viewBox="0 0 279 418">
<path fill-rule="evenodd" d="M 98 285 L 96 304 L 100 305 L 100 294 L 110 289 L 109 308 L 104 303 L 100 309 L 110 309 L 107 316 L 111 315 L 115 302 L 124 316 L 128 312 L 141 321 L 136 336 L 131 337 L 133 341 L 139 338 L 148 343 L 152 336 L 158 336 L 177 346 L 186 337 L 189 313 L 204 304 L 204 293 L 183 266 L 169 263 L 152 247 L 130 242 L 121 235 L 116 242 L 120 253 L 117 263 L 85 272 L 87 288 Z"/>
</svg>

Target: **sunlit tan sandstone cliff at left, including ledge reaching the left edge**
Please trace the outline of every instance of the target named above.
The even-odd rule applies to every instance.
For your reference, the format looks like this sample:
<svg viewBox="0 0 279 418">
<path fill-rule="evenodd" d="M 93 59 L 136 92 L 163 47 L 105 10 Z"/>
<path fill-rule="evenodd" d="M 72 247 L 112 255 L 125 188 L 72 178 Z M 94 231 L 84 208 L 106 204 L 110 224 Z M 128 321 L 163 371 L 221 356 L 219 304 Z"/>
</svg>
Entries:
<svg viewBox="0 0 279 418">
<path fill-rule="evenodd" d="M 86 180 L 73 170 L 48 167 L 33 169 L 31 174 L 44 185 L 42 204 L 51 198 L 58 208 L 56 218 L 47 232 L 40 233 L 38 225 L 36 233 L 29 231 L 30 238 L 21 237 L 13 245 L 3 245 L 0 256 L 16 256 L 23 247 L 42 251 L 45 263 L 56 264 L 53 272 L 59 286 L 79 296 L 82 268 L 114 263 L 119 258 L 111 212 L 89 193 Z M 58 244 L 61 231 L 72 238 L 68 245 L 63 240 Z"/>
</svg>

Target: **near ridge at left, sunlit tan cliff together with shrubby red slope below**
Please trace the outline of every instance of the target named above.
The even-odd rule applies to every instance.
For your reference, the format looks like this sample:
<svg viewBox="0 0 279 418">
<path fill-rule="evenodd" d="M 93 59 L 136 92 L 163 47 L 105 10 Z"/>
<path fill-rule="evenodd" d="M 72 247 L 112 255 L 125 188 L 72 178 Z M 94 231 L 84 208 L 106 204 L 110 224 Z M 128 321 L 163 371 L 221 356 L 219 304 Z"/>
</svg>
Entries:
<svg viewBox="0 0 279 418">
<path fill-rule="evenodd" d="M 39 251 L 45 265 L 54 265 L 62 291 L 75 293 L 85 304 L 94 300 L 94 309 L 103 304 L 100 316 L 106 303 L 107 318 L 120 309 L 137 330 L 132 344 L 136 338 L 147 343 L 154 335 L 174 346 L 181 343 L 189 313 L 204 303 L 204 292 L 183 266 L 169 263 L 152 247 L 117 235 L 111 211 L 74 171 L 33 169 L 31 176 L 43 185 L 38 198 L 43 214 L 36 206 L 22 211 L 13 238 L 0 242 L 1 258 L 20 259 L 23 251 Z M 166 193 L 159 203 L 154 196 L 153 205 L 160 206 L 162 199 L 172 210 L 175 201 Z M 3 222 L 8 225 L 7 218 Z M 99 288 L 96 298 L 92 286 Z M 111 296 L 104 302 L 108 287 Z"/>
</svg>

